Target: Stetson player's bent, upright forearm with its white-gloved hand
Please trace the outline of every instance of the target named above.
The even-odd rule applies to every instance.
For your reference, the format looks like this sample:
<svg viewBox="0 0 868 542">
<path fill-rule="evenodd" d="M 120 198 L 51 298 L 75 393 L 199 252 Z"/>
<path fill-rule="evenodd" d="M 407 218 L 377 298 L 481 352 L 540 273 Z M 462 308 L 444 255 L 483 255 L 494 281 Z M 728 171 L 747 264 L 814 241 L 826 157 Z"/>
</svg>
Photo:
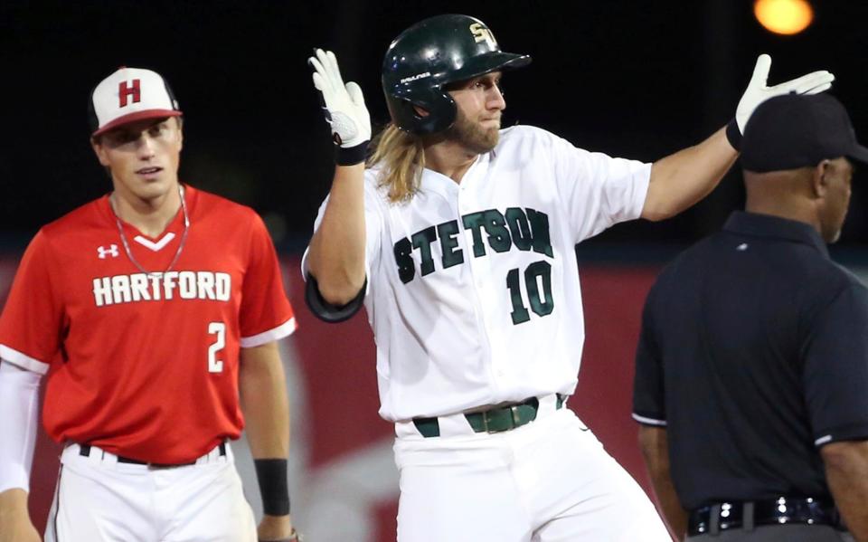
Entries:
<svg viewBox="0 0 868 542">
<path fill-rule="evenodd" d="M 362 89 L 353 81 L 344 85 L 334 53 L 316 49 L 308 63 L 332 128 L 337 164 L 322 222 L 310 242 L 307 270 L 323 299 L 342 306 L 357 298 L 365 280 L 363 182 L 371 117 Z"/>
</svg>

